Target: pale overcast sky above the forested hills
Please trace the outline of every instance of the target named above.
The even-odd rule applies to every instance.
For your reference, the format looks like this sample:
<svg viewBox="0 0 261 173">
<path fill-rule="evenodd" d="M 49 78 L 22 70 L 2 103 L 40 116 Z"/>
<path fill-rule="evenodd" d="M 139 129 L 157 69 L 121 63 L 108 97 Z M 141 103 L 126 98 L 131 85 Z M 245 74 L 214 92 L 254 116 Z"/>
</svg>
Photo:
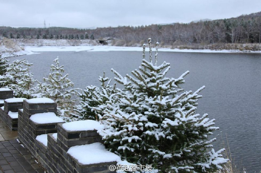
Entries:
<svg viewBox="0 0 261 173">
<path fill-rule="evenodd" d="M 0 0 L 0 25 L 72 28 L 223 19 L 261 11 L 261 0 Z"/>
</svg>

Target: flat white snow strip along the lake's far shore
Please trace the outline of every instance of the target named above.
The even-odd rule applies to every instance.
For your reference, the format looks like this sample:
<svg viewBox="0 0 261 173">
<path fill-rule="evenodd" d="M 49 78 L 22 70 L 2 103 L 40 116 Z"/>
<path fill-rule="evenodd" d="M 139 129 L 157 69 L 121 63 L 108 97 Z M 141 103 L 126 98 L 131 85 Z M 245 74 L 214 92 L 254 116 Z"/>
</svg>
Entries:
<svg viewBox="0 0 261 173">
<path fill-rule="evenodd" d="M 152 48 L 155 51 L 155 48 Z M 59 52 L 59 51 L 89 51 L 89 52 L 105 52 L 105 51 L 142 51 L 142 47 L 124 47 L 124 46 L 24 46 L 24 50 L 4 53 L 3 57 L 14 57 L 21 55 L 30 55 L 40 52 Z M 149 48 L 146 47 L 146 51 Z M 159 52 L 187 52 L 187 53 L 261 53 L 261 51 L 240 51 L 240 50 L 209 50 L 209 49 L 170 49 L 159 48 Z"/>
</svg>

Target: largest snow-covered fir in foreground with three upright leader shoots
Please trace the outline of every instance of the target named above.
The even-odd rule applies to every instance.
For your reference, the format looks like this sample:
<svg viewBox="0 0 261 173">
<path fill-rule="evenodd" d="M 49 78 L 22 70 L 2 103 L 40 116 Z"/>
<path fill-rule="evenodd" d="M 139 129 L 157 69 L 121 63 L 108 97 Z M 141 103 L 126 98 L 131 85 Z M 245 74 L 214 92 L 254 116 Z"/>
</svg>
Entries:
<svg viewBox="0 0 261 173">
<path fill-rule="evenodd" d="M 181 84 L 189 71 L 179 78 L 166 77 L 170 64 L 158 63 L 158 42 L 155 63 L 145 58 L 143 46 L 142 67 L 123 77 L 111 69 L 114 79 L 123 85 L 117 94 L 103 105 L 102 123 L 106 147 L 134 164 L 151 164 L 159 172 L 210 172 L 221 169 L 228 159 L 220 149 L 215 152 L 209 139 L 214 119 L 208 114 L 196 114 L 198 95 L 205 86 L 195 92 L 183 91 Z M 128 81 L 129 80 L 129 81 Z"/>
</svg>

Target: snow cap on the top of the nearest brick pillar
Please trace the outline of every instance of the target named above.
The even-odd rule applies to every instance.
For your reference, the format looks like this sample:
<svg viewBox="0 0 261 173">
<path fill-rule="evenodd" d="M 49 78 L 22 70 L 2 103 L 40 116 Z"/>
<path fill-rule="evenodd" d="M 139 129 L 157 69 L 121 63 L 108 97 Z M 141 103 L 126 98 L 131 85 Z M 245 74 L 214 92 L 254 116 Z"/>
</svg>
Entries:
<svg viewBox="0 0 261 173">
<path fill-rule="evenodd" d="M 104 125 L 94 120 L 72 121 L 62 125 L 68 131 L 102 130 Z"/>
</svg>

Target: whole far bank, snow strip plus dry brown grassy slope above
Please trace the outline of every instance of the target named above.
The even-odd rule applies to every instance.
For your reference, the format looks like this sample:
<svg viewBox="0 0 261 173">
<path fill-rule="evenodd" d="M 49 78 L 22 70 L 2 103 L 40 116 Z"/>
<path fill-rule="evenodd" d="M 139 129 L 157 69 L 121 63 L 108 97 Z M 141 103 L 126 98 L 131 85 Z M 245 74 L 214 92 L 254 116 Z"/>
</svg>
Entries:
<svg viewBox="0 0 261 173">
<path fill-rule="evenodd" d="M 15 57 L 46 51 L 142 51 L 142 47 L 101 45 L 97 40 L 63 40 L 63 39 L 0 39 L 2 57 Z M 148 51 L 148 48 L 146 48 Z M 155 48 L 153 48 L 155 51 Z M 159 52 L 190 52 L 190 53 L 261 53 L 257 44 L 215 44 L 215 45 L 179 45 L 164 46 Z"/>
</svg>

